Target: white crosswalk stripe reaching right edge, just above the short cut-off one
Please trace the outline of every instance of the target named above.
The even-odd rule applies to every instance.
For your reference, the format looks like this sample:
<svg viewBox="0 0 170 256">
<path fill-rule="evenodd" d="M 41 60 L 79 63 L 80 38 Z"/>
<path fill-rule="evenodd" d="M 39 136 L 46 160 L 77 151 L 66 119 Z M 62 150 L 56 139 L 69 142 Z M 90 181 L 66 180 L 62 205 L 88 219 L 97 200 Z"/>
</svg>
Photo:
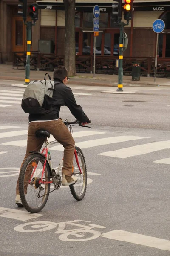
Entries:
<svg viewBox="0 0 170 256">
<path fill-rule="evenodd" d="M 142 145 L 137 145 L 129 148 L 122 148 L 114 151 L 103 152 L 99 155 L 108 157 L 118 157 L 127 158 L 133 156 L 139 156 L 142 154 L 147 154 L 162 149 L 170 148 L 170 140 L 158 141 L 153 143 L 147 143 Z"/>
</svg>

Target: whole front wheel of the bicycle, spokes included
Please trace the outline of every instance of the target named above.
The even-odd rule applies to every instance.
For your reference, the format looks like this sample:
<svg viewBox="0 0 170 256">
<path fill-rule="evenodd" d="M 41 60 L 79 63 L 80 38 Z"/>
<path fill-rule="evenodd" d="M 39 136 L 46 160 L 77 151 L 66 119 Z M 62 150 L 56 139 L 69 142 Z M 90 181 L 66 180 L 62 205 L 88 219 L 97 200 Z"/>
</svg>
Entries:
<svg viewBox="0 0 170 256">
<path fill-rule="evenodd" d="M 80 201 L 84 198 L 86 188 L 87 188 L 87 169 L 86 169 L 85 157 L 82 153 L 82 150 L 78 147 L 76 147 L 75 149 L 77 151 L 79 166 L 80 166 L 82 173 L 80 173 L 80 171 L 79 171 L 79 167 L 77 165 L 77 160 L 74 155 L 74 160 L 73 160 L 74 173 L 73 173 L 73 175 L 75 175 L 78 178 L 78 180 L 77 180 L 77 183 L 75 183 L 74 185 L 70 185 L 70 190 L 71 190 L 71 194 L 73 195 L 73 197 L 77 201 Z"/>
</svg>

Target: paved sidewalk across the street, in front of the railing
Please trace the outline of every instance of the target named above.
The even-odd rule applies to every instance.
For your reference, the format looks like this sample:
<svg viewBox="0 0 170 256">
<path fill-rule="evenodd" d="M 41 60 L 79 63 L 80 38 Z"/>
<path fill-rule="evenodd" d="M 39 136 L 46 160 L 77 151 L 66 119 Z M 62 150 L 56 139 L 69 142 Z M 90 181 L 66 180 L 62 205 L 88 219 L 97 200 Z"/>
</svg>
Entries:
<svg viewBox="0 0 170 256">
<path fill-rule="evenodd" d="M 25 70 L 17 70 L 12 68 L 11 65 L 0 65 L 0 80 L 14 80 L 14 81 L 25 81 Z M 43 80 L 45 71 L 30 71 L 31 80 Z M 53 72 L 47 72 L 53 79 Z M 16 82 L 14 82 L 16 84 Z M 88 86 L 118 86 L 117 75 L 103 75 L 96 74 L 81 74 L 77 73 L 77 76 L 71 77 L 68 84 L 79 84 Z M 140 81 L 132 81 L 131 76 L 123 76 L 123 86 L 125 87 L 148 87 L 148 86 L 170 86 L 170 79 L 167 78 L 156 78 L 156 82 L 153 81 L 153 77 L 141 76 Z"/>
</svg>

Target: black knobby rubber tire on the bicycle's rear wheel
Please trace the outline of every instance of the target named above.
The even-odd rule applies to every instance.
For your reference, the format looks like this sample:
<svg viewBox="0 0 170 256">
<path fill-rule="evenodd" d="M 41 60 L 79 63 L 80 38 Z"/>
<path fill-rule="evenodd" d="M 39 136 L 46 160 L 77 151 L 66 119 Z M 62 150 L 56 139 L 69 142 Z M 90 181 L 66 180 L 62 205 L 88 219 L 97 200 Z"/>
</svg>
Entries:
<svg viewBox="0 0 170 256">
<path fill-rule="evenodd" d="M 23 207 L 28 211 L 28 212 L 31 212 L 31 213 L 37 213 L 37 212 L 40 212 L 44 207 L 45 207 L 45 204 L 48 200 L 48 196 L 49 196 L 49 192 L 50 192 L 50 183 L 49 184 L 45 184 L 45 195 L 44 197 L 42 197 L 42 204 L 40 204 L 40 206 L 38 207 L 32 207 L 30 204 L 28 203 L 26 197 L 28 196 L 28 192 L 27 194 L 24 193 L 24 178 L 25 178 L 25 174 L 26 174 L 26 170 L 27 170 L 27 167 L 31 164 L 31 161 L 33 160 L 38 160 L 38 164 L 39 162 L 44 165 L 42 162 L 44 160 L 44 157 L 41 156 L 40 154 L 31 154 L 30 156 L 27 157 L 26 161 L 23 163 L 23 166 L 20 170 L 20 175 L 19 175 L 19 192 L 20 192 L 20 198 L 21 198 L 21 202 L 23 204 Z M 33 162 L 32 162 L 33 163 Z M 37 169 L 39 170 L 39 169 Z M 47 177 L 45 178 L 47 181 L 50 181 L 50 175 L 51 175 L 51 172 L 50 172 L 50 167 L 48 165 L 48 163 L 46 163 L 45 165 L 45 176 L 47 175 Z M 36 189 L 38 188 L 35 188 L 35 185 L 31 185 L 28 183 L 28 186 L 31 186 L 32 189 L 34 189 L 34 192 L 36 191 Z M 26 184 L 25 184 L 26 186 Z M 28 188 L 28 187 L 27 187 Z M 39 189 L 40 190 L 40 189 Z M 44 190 L 44 189 L 42 189 Z M 37 192 L 34 193 L 35 195 L 37 194 Z M 46 195 L 47 194 L 47 195 Z M 36 202 L 37 202 L 37 198 L 36 197 Z"/>
</svg>

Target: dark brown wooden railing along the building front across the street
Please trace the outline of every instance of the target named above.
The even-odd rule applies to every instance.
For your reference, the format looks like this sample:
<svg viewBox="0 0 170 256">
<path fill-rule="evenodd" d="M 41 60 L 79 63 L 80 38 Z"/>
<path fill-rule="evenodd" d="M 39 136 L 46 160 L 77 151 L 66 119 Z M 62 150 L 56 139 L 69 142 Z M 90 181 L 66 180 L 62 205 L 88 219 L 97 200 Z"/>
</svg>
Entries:
<svg viewBox="0 0 170 256">
<path fill-rule="evenodd" d="M 118 56 L 96 55 L 96 73 L 117 74 L 116 59 Z M 153 57 L 124 57 L 123 73 L 132 74 L 134 63 L 141 66 L 141 76 L 153 76 L 155 58 Z M 54 70 L 55 67 L 64 65 L 64 55 L 42 54 L 31 52 L 30 68 L 32 70 Z M 26 67 L 26 52 L 13 52 L 13 67 Z M 93 73 L 94 56 L 76 55 L 77 73 Z M 157 74 L 162 77 L 170 77 L 170 58 L 158 58 Z"/>
</svg>

